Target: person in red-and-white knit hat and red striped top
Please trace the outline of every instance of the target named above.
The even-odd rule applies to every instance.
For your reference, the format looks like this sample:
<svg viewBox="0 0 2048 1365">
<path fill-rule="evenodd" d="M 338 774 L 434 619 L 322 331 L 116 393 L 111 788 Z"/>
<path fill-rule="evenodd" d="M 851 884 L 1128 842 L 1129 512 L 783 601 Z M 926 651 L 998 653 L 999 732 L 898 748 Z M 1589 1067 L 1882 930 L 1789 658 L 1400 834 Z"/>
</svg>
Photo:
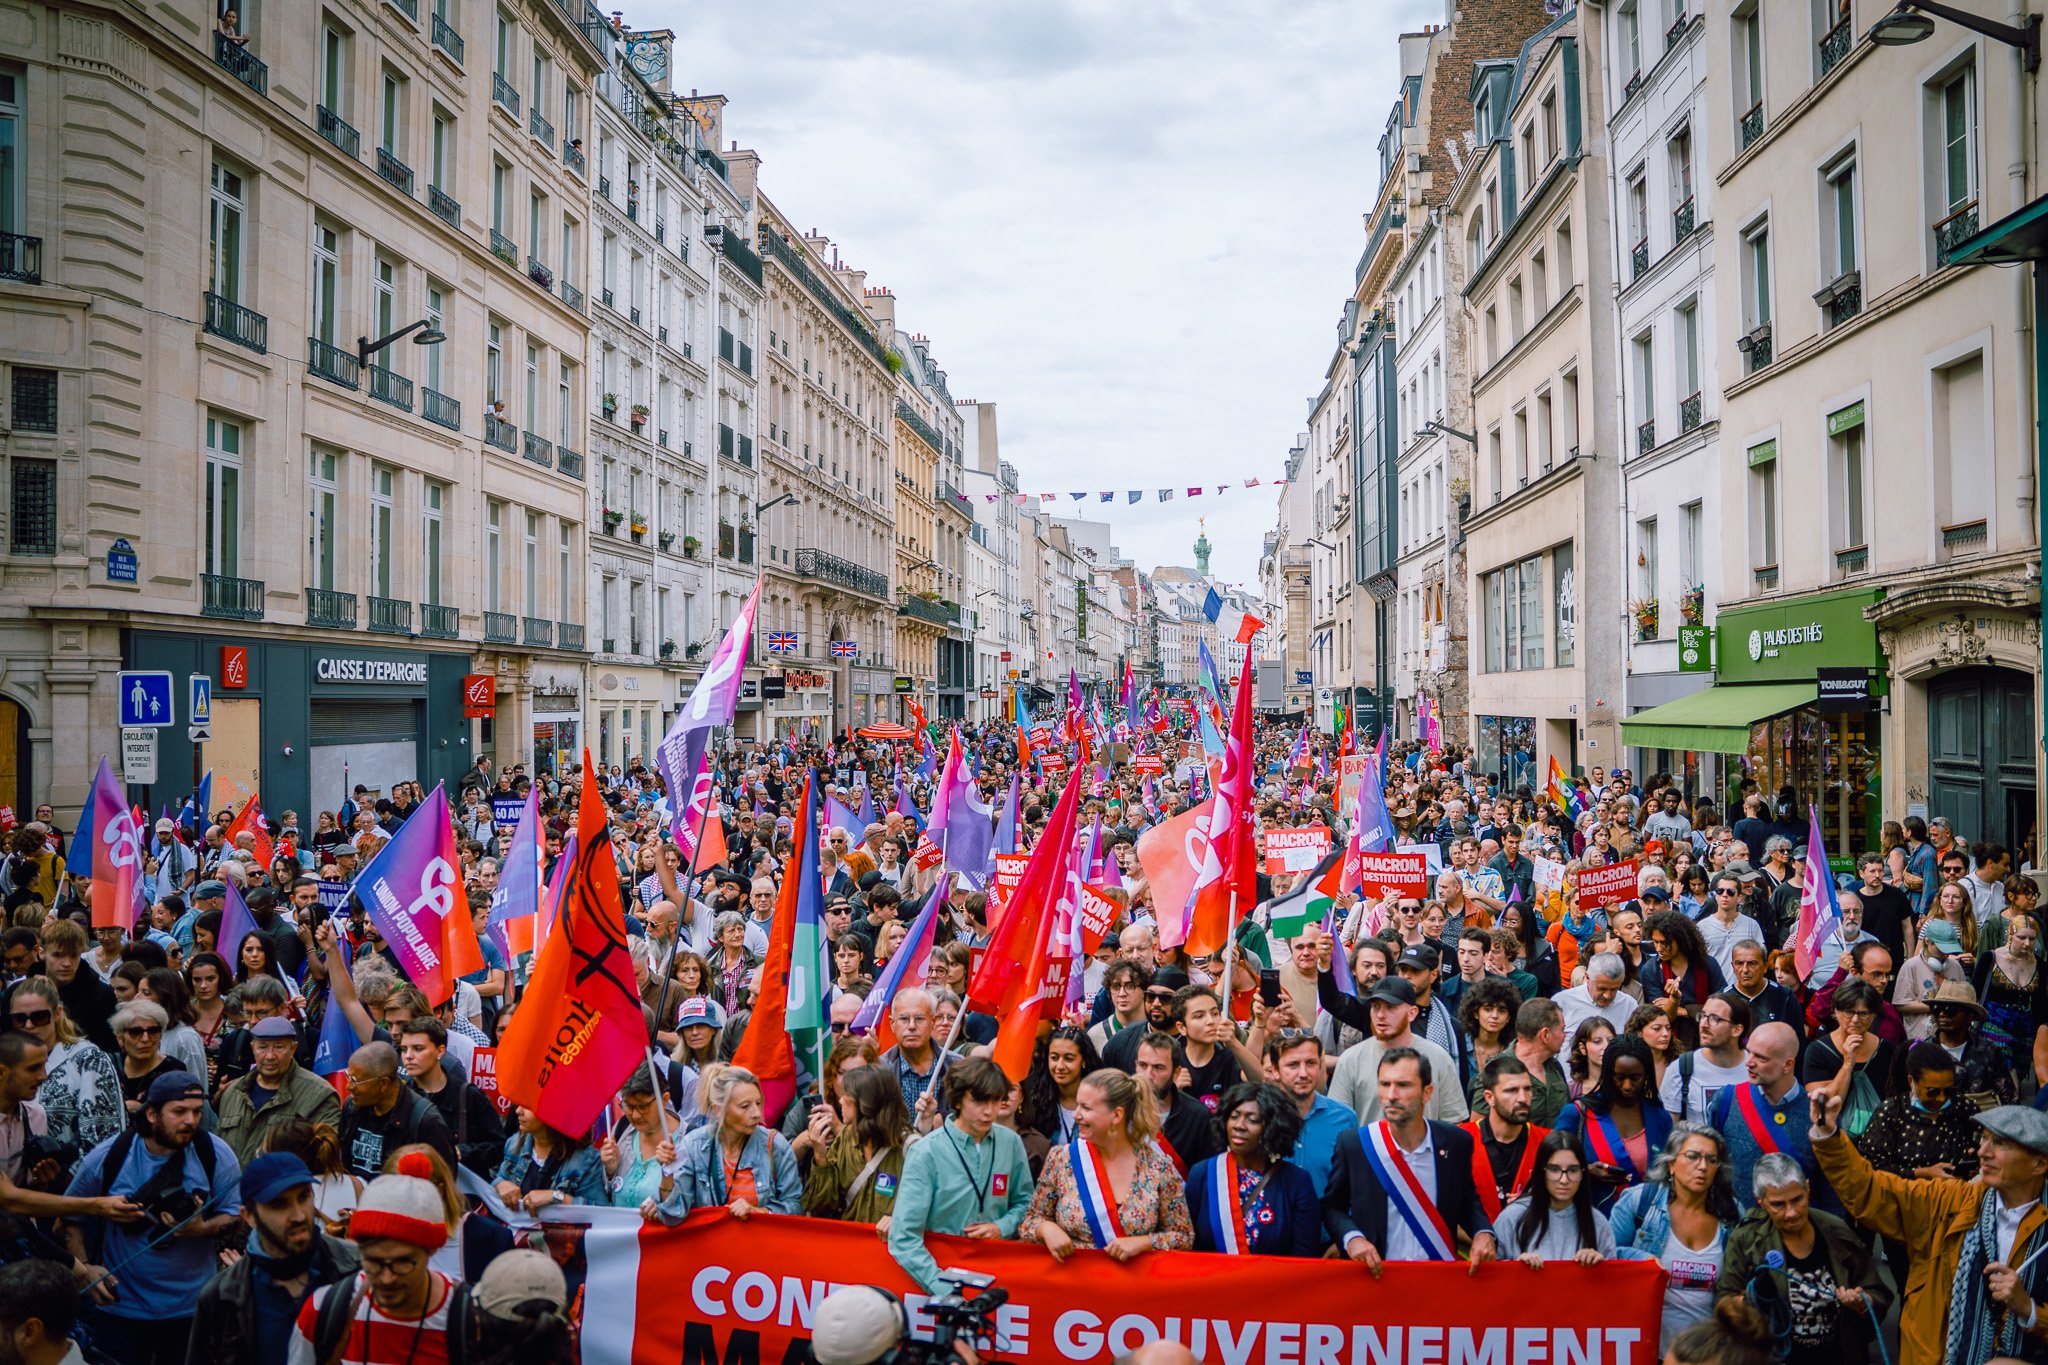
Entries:
<svg viewBox="0 0 2048 1365">
<path fill-rule="evenodd" d="M 449 1328 L 463 1285 L 428 1265 L 449 1240 L 446 1205 L 424 1152 L 403 1152 L 393 1175 L 362 1187 L 348 1220 L 362 1269 L 307 1295 L 287 1365 L 451 1361 Z"/>
</svg>

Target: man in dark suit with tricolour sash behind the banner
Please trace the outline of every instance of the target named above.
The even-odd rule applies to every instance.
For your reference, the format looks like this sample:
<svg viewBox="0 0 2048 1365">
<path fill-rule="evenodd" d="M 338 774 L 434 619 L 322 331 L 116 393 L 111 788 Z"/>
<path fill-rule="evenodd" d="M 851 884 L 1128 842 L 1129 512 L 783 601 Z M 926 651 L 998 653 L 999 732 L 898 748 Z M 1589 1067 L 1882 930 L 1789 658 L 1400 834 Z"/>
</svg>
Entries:
<svg viewBox="0 0 2048 1365">
<path fill-rule="evenodd" d="M 1499 1244 L 1473 1187 L 1473 1136 L 1423 1117 L 1434 1089 L 1430 1058 L 1391 1048 L 1380 1058 L 1378 1087 L 1386 1117 L 1337 1138 L 1335 1171 L 1323 1191 L 1329 1240 L 1374 1277 L 1382 1261 L 1454 1259 L 1458 1234 L 1470 1244 L 1475 1269 L 1493 1261 Z M 1421 1189 L 1419 1199 L 1397 1199 L 1382 1183 L 1380 1171 L 1401 1181 L 1401 1166 L 1413 1175 L 1411 1191 Z"/>
</svg>

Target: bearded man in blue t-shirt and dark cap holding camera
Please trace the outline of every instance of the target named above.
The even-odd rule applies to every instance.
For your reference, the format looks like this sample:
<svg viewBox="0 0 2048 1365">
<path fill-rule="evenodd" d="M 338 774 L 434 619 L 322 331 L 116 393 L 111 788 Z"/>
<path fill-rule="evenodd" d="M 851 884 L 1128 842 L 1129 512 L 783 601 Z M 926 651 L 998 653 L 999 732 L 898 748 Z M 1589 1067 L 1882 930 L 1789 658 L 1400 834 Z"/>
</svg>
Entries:
<svg viewBox="0 0 2048 1365">
<path fill-rule="evenodd" d="M 131 1226 L 68 1222 L 98 1312 L 94 1340 L 127 1365 L 182 1365 L 193 1306 L 213 1277 L 213 1238 L 242 1214 L 242 1164 L 199 1124 L 207 1087 L 184 1070 L 150 1083 L 131 1128 L 86 1152 L 72 1195 L 127 1195 Z M 106 1275 L 106 1271 L 115 1271 Z"/>
</svg>

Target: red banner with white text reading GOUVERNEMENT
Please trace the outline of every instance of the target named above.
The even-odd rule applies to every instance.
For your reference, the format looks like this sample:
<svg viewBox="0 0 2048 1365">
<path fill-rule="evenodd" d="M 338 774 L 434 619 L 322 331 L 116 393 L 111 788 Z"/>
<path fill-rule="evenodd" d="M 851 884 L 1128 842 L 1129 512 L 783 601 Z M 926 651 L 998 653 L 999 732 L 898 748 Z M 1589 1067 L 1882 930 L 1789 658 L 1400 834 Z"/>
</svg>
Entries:
<svg viewBox="0 0 2048 1365">
<path fill-rule="evenodd" d="M 817 1304 L 844 1283 L 879 1283 L 930 1326 L 924 1295 L 862 1224 L 700 1209 L 672 1230 L 596 1232 L 586 1304 L 606 1308 L 584 1316 L 586 1365 L 809 1359 Z M 1651 1261 L 1507 1261 L 1477 1275 L 1397 1263 L 1372 1279 L 1350 1261 L 1149 1252 L 1120 1265 L 1081 1250 L 1061 1265 L 1024 1242 L 928 1244 L 942 1267 L 1010 1291 L 995 1316 L 1004 1361 L 1108 1363 L 1161 1336 L 1212 1365 L 1657 1361 L 1663 1271 Z"/>
</svg>

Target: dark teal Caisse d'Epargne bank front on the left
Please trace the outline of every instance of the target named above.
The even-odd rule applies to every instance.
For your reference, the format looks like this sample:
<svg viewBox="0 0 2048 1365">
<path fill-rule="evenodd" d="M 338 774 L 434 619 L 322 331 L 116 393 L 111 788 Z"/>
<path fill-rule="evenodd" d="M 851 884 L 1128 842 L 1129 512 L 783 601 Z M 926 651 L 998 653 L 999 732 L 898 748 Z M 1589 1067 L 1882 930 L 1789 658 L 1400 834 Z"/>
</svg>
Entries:
<svg viewBox="0 0 2048 1365">
<path fill-rule="evenodd" d="M 213 806 L 262 792 L 264 810 L 336 810 L 356 788 L 383 796 L 397 782 L 461 778 L 475 759 L 463 718 L 469 657 L 301 641 L 135 630 L 127 667 L 213 679 L 211 739 L 158 731 L 158 784 L 135 792 L 152 808 L 184 800 L 213 772 Z"/>
</svg>

